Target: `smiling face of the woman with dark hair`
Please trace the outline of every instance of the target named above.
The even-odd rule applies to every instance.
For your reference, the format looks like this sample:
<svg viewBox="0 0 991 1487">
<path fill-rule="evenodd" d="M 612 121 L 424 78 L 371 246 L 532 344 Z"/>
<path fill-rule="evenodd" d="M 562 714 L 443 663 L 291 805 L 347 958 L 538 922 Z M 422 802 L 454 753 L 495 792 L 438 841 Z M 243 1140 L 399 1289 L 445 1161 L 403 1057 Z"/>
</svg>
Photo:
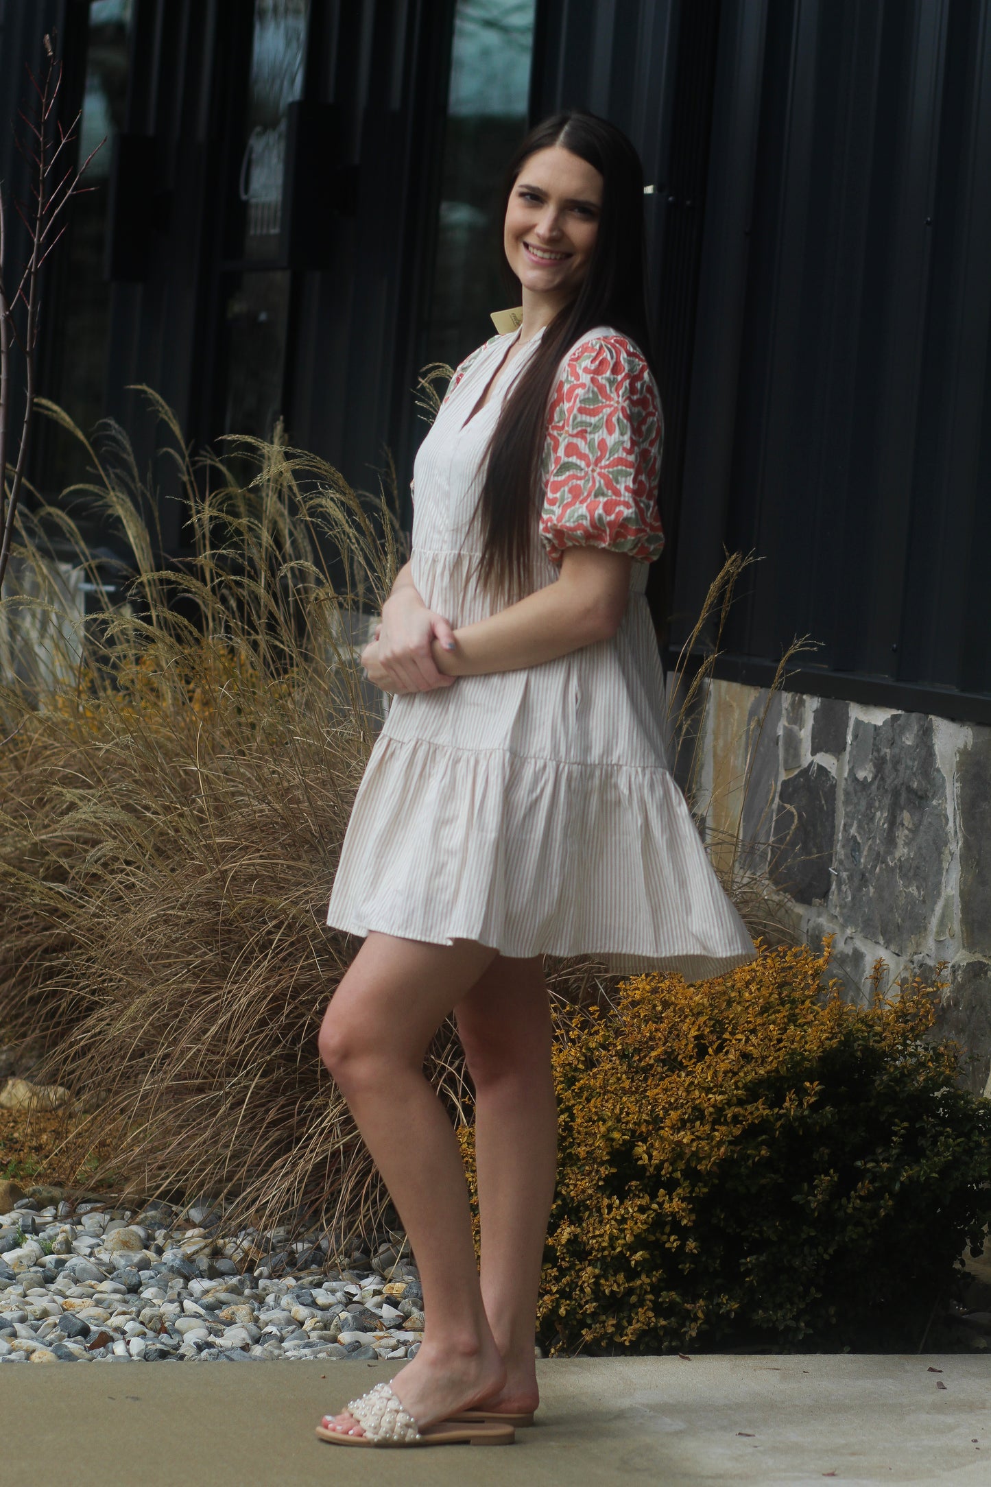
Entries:
<svg viewBox="0 0 991 1487">
<path fill-rule="evenodd" d="M 523 162 L 510 192 L 504 245 L 524 306 L 527 299 L 539 302 L 550 318 L 578 293 L 596 247 L 602 186 L 594 165 L 559 144 Z"/>
</svg>

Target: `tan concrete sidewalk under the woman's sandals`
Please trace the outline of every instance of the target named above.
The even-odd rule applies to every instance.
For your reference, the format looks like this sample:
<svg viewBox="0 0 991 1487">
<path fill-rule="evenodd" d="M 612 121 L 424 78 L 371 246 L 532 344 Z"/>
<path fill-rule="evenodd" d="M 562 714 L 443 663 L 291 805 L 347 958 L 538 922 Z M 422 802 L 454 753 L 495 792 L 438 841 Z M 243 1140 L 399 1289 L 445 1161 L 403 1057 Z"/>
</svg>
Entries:
<svg viewBox="0 0 991 1487">
<path fill-rule="evenodd" d="M 568 1359 L 501 1450 L 354 1450 L 313 1435 L 395 1365 L 0 1367 L 0 1480 L 79 1487 L 991 1484 L 981 1356 Z M 945 1384 L 939 1389 L 938 1384 Z"/>
</svg>

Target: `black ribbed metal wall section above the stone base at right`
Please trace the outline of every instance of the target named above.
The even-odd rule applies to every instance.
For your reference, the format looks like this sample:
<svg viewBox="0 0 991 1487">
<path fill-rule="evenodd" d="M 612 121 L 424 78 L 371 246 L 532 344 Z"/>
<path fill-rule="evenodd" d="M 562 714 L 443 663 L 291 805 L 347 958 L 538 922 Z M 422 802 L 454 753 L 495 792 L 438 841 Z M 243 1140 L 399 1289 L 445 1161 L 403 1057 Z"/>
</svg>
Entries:
<svg viewBox="0 0 991 1487">
<path fill-rule="evenodd" d="M 991 686 L 990 10 L 725 0 L 678 607 L 761 553 L 741 657 Z"/>
</svg>

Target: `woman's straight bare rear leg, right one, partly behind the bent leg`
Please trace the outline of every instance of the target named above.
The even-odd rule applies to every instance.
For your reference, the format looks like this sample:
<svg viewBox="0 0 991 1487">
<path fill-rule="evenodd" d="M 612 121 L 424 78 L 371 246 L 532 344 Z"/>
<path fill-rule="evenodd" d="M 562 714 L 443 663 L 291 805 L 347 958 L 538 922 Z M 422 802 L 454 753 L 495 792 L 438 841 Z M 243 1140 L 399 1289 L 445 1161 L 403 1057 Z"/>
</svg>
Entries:
<svg viewBox="0 0 991 1487">
<path fill-rule="evenodd" d="M 533 1410 L 533 1323 L 557 1146 L 539 956 L 498 956 L 455 1014 L 475 1086 L 481 1295 L 507 1367 L 505 1384 L 484 1404 L 507 1413 Z"/>
</svg>

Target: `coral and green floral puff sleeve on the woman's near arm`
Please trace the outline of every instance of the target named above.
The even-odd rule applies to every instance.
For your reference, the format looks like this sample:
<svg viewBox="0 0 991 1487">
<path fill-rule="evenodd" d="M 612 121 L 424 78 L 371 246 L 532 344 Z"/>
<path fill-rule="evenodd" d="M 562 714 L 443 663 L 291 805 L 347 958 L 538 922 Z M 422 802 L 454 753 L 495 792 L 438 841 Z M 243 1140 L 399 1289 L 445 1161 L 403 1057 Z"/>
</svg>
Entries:
<svg viewBox="0 0 991 1487">
<path fill-rule="evenodd" d="M 631 341 L 596 336 L 571 354 L 544 445 L 541 541 L 551 562 L 566 547 L 660 558 L 663 428 L 657 385 Z"/>
</svg>

